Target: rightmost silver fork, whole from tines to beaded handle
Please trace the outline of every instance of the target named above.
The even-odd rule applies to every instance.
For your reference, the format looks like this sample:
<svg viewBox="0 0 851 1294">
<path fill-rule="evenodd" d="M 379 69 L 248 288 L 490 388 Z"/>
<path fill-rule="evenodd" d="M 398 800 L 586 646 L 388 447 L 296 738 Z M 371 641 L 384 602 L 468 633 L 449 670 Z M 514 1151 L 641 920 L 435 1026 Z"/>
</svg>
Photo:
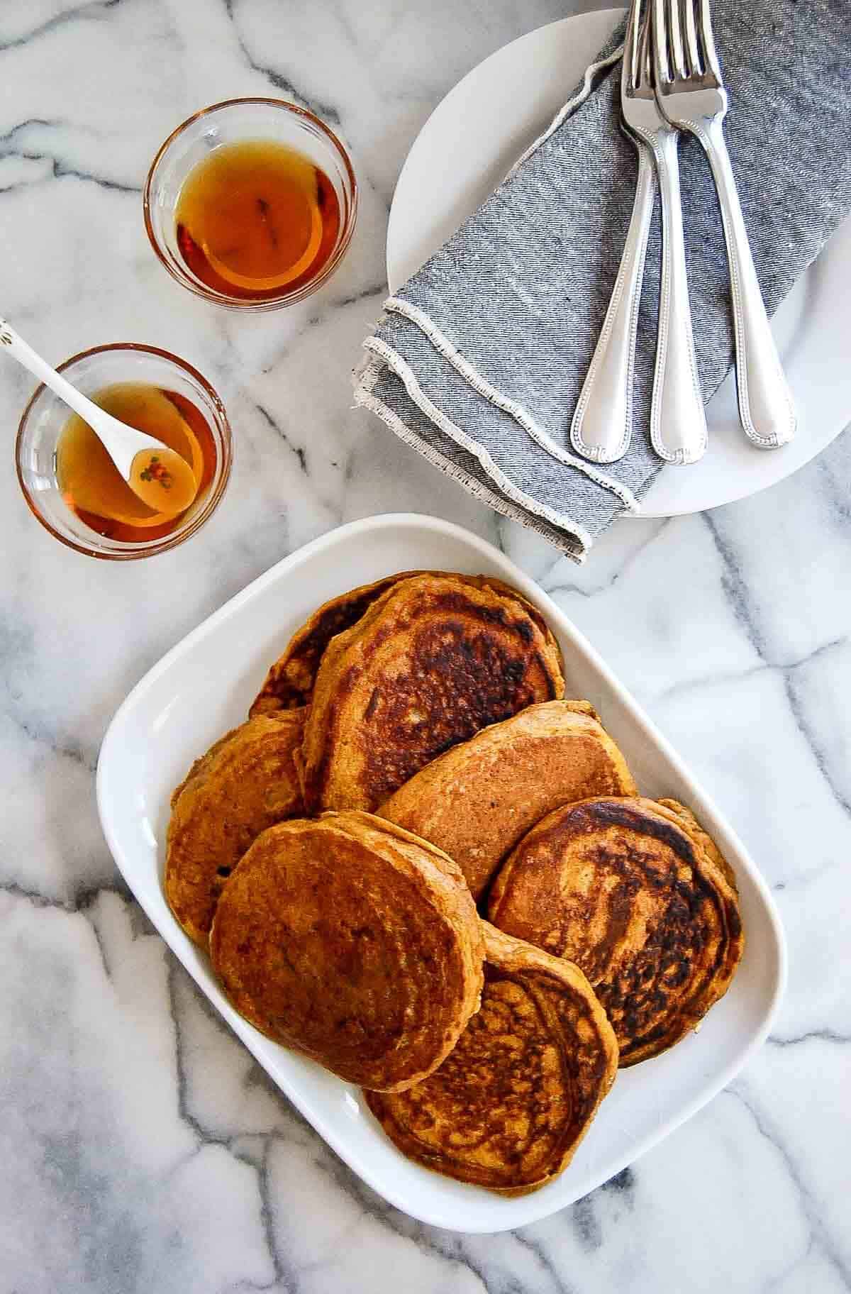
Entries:
<svg viewBox="0 0 851 1294">
<path fill-rule="evenodd" d="M 673 126 L 697 136 L 718 190 L 729 265 L 738 417 L 755 445 L 775 449 L 794 436 L 795 408 L 771 335 L 724 142 L 727 92 L 709 0 L 653 0 L 653 6 L 660 107 Z"/>
</svg>

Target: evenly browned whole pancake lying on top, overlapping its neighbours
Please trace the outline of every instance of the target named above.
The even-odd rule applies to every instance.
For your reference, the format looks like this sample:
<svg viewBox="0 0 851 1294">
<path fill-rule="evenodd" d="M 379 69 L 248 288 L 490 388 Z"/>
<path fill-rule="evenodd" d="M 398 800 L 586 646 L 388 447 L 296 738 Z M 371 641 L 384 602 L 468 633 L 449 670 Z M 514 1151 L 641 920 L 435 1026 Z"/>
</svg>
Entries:
<svg viewBox="0 0 851 1294">
<path fill-rule="evenodd" d="M 265 831 L 225 886 L 210 950 L 246 1020 L 362 1087 L 424 1078 L 479 1008 L 484 945 L 463 876 L 370 814 Z"/>
</svg>

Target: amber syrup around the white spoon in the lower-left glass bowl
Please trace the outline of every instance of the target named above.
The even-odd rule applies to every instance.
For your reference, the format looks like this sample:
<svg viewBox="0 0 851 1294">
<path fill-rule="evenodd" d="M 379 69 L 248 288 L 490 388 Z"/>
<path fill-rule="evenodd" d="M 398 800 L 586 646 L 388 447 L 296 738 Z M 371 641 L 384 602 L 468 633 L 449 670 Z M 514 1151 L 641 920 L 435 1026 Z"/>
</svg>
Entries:
<svg viewBox="0 0 851 1294">
<path fill-rule="evenodd" d="M 216 471 L 216 441 L 210 423 L 191 400 L 147 382 L 119 382 L 91 399 L 114 418 L 156 436 L 176 450 L 190 465 L 198 483 L 193 506 L 203 499 Z M 186 515 L 166 515 L 142 503 L 78 414 L 69 418 L 59 433 L 56 475 L 67 506 L 110 540 L 125 543 L 160 540 L 177 529 Z"/>
</svg>

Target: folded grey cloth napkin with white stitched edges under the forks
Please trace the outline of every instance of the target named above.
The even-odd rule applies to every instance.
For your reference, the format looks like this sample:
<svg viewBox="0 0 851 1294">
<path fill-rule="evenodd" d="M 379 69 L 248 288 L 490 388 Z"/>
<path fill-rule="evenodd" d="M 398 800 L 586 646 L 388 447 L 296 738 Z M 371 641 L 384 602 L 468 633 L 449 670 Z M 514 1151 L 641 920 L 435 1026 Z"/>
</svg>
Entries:
<svg viewBox="0 0 851 1294">
<path fill-rule="evenodd" d="M 727 141 L 772 313 L 851 210 L 851 0 L 714 0 L 731 94 Z M 573 410 L 630 219 L 636 155 L 621 133 L 619 34 L 546 133 L 384 304 L 354 374 L 372 409 L 497 511 L 583 560 L 665 467 L 647 427 L 660 278 L 648 246 L 635 432 L 617 463 L 570 449 Z M 680 149 L 695 342 L 705 399 L 732 364 L 727 261 L 707 163 Z"/>
</svg>

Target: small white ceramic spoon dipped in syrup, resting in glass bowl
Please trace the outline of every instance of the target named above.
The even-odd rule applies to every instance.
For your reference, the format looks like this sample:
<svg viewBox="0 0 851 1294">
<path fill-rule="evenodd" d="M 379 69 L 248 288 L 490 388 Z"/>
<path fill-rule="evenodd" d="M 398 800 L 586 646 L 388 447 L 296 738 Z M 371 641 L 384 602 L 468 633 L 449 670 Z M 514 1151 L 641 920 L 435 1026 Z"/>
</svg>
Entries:
<svg viewBox="0 0 851 1294">
<path fill-rule="evenodd" d="M 128 427 L 72 387 L 45 364 L 14 329 L 0 318 L 0 347 L 63 400 L 89 424 L 122 477 L 142 503 L 164 516 L 185 512 L 198 493 L 198 481 L 185 458 L 162 440 Z"/>
</svg>

